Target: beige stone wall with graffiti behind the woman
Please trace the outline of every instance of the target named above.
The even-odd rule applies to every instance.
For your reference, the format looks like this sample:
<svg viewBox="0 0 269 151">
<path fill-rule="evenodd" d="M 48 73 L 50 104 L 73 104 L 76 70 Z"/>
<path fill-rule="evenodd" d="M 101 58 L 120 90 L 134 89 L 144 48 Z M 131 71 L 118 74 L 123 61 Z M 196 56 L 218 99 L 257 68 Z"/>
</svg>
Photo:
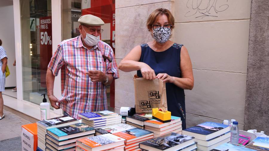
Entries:
<svg viewBox="0 0 269 151">
<path fill-rule="evenodd" d="M 171 40 L 187 47 L 195 80 L 193 90 L 185 90 L 187 127 L 234 118 L 243 129 L 250 4 L 251 0 L 116 0 L 117 63 L 136 45 L 152 40 L 146 29 L 149 14 L 157 8 L 170 10 L 175 17 Z M 134 107 L 135 73 L 120 71 L 116 112 L 122 106 Z"/>
</svg>

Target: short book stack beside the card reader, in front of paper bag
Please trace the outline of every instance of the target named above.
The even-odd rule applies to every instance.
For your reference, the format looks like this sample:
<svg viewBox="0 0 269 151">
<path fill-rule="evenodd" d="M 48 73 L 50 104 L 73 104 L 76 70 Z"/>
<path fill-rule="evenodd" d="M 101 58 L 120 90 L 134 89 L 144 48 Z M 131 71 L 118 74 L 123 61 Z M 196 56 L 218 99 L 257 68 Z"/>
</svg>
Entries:
<svg viewBox="0 0 269 151">
<path fill-rule="evenodd" d="M 134 114 L 126 117 L 126 124 L 144 129 L 144 121 L 152 119 L 152 114 Z"/>
</svg>

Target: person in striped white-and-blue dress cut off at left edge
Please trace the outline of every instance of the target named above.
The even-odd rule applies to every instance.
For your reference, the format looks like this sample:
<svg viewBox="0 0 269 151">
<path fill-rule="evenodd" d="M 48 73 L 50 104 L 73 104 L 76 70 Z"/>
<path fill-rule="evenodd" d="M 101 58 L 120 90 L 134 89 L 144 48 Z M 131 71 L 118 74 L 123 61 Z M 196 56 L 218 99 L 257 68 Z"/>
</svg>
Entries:
<svg viewBox="0 0 269 151">
<path fill-rule="evenodd" d="M 0 39 L 0 67 L 2 72 L 0 72 L 0 120 L 5 117 L 3 113 L 4 109 L 4 100 L 2 96 L 2 92 L 5 91 L 5 83 L 6 83 L 6 67 L 7 67 L 7 53 L 2 47 L 2 41 Z"/>
</svg>

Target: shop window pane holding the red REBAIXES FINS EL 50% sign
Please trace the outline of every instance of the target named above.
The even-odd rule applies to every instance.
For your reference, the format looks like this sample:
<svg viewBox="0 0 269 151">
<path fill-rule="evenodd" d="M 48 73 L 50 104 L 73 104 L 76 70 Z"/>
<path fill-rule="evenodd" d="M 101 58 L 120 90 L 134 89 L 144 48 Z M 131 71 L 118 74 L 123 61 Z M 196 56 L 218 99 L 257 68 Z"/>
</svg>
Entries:
<svg viewBox="0 0 269 151">
<path fill-rule="evenodd" d="M 20 7 L 23 99 L 40 104 L 41 94 L 47 94 L 46 72 L 52 56 L 51 0 L 21 0 Z"/>
</svg>

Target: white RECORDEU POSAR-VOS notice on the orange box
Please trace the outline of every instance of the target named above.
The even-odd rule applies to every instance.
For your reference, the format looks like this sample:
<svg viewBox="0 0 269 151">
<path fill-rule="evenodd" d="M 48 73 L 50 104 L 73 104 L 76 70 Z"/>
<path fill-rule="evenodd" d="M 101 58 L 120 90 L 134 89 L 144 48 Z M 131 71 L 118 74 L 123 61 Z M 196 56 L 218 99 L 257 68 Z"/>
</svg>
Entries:
<svg viewBox="0 0 269 151">
<path fill-rule="evenodd" d="M 22 151 L 33 151 L 33 134 L 22 128 Z"/>
</svg>

